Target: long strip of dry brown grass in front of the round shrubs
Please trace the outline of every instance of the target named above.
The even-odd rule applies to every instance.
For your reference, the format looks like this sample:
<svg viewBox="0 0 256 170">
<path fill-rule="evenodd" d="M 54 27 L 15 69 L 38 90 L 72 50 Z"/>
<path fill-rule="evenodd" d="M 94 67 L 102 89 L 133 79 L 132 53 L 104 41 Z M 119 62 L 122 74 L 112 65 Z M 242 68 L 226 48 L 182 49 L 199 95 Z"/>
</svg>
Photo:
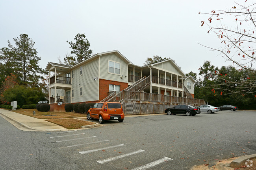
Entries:
<svg viewBox="0 0 256 170">
<path fill-rule="evenodd" d="M 35 115 L 33 115 L 33 111 L 35 111 Z M 16 112 L 16 113 L 20 113 L 22 115 L 35 117 L 37 119 L 86 117 L 86 115 L 82 114 L 82 113 L 75 113 L 75 112 L 39 112 L 36 109 L 19 109 L 19 110 L 13 110 L 12 112 Z"/>
</svg>

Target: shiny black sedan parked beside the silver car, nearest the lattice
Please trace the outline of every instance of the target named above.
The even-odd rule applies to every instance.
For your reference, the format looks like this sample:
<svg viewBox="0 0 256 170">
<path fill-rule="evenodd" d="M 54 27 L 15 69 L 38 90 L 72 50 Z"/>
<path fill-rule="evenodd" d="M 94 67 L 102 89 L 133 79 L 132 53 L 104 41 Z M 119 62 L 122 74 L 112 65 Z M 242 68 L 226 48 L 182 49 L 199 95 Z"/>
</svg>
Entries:
<svg viewBox="0 0 256 170">
<path fill-rule="evenodd" d="M 194 106 L 188 104 L 180 104 L 173 108 L 165 109 L 165 113 L 167 113 L 167 115 L 186 114 L 187 116 L 195 116 L 197 114 L 200 114 L 201 112 L 200 108 L 195 108 Z"/>
</svg>

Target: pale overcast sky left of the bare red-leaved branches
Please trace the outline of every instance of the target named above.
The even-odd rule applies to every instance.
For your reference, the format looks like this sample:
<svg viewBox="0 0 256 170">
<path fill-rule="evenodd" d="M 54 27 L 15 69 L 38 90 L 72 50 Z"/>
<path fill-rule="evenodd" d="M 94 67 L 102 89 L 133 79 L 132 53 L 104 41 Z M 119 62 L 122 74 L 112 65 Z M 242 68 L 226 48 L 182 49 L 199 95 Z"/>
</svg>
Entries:
<svg viewBox="0 0 256 170">
<path fill-rule="evenodd" d="M 94 54 L 118 50 L 139 66 L 147 57 L 170 57 L 184 73 L 198 73 L 206 60 L 232 64 L 198 44 L 219 46 L 201 27 L 208 16 L 198 12 L 233 6 L 234 0 L 0 0 L 0 48 L 26 33 L 45 68 L 70 54 L 67 41 L 84 33 Z"/>
</svg>

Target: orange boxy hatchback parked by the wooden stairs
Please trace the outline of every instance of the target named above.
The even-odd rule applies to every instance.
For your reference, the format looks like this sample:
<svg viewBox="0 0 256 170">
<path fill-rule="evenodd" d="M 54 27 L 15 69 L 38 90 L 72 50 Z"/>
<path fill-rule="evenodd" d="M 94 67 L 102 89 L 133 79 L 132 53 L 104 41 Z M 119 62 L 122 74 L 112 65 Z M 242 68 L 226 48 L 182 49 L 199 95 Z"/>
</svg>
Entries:
<svg viewBox="0 0 256 170">
<path fill-rule="evenodd" d="M 124 121 L 124 112 L 122 104 L 119 102 L 97 102 L 88 110 L 87 119 L 99 119 L 100 123 L 107 120 Z"/>
</svg>

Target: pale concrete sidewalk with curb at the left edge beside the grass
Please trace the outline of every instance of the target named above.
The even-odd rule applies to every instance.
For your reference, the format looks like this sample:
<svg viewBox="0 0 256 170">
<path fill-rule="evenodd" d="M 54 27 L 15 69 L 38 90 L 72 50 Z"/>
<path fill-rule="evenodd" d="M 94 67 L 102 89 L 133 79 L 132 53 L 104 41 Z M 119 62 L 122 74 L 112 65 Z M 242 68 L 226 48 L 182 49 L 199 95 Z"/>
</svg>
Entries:
<svg viewBox="0 0 256 170">
<path fill-rule="evenodd" d="M 61 131 L 68 130 L 43 119 L 22 115 L 9 110 L 0 109 L 0 115 L 16 128 L 24 131 Z"/>
</svg>

